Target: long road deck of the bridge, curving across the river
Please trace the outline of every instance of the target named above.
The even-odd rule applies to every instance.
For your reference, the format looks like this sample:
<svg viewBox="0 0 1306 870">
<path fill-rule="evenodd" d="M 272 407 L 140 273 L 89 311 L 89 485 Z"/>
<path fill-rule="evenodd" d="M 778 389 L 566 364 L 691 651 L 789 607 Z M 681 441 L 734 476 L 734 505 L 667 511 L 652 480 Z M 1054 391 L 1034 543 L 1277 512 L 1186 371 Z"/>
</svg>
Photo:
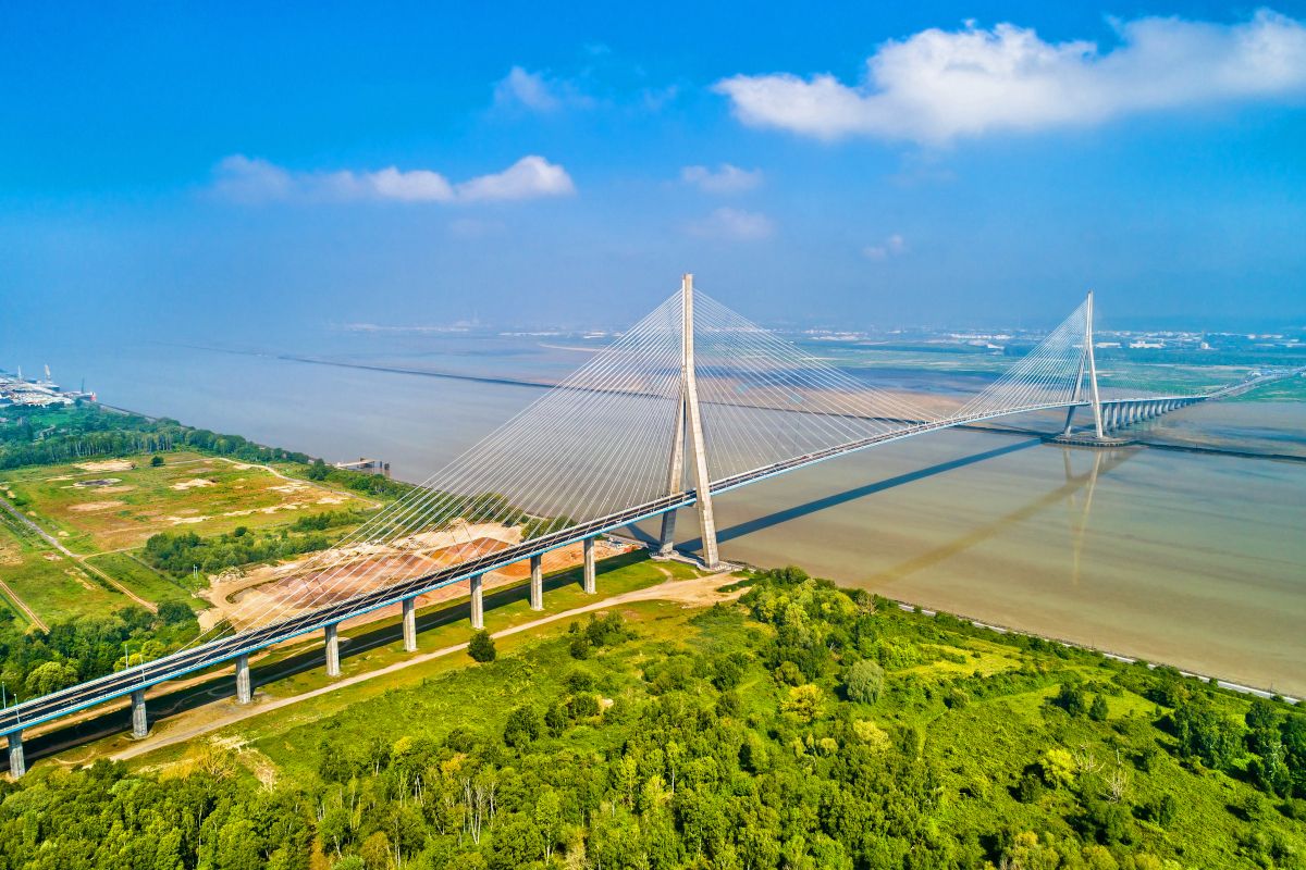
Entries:
<svg viewBox="0 0 1306 870">
<path fill-rule="evenodd" d="M 1162 397 L 1157 400 L 1171 399 L 1191 403 L 1202 400 L 1203 398 L 1205 397 Z M 1104 406 L 1107 403 L 1109 402 L 1105 400 L 1102 402 Z M 712 483 L 712 494 L 716 496 L 718 493 L 738 489 L 739 487 L 789 471 L 795 471 L 818 462 L 824 462 L 827 459 L 833 459 L 836 457 L 842 457 L 867 447 L 888 443 L 891 441 L 900 441 L 902 438 L 909 438 L 927 432 L 982 423 L 985 420 L 1017 413 L 1066 410 L 1070 407 L 1084 407 L 1088 404 L 1088 402 L 1054 402 L 1023 406 L 1013 410 L 949 417 L 947 420 L 931 423 L 909 424 L 901 429 L 895 429 L 858 441 L 850 441 L 835 447 L 807 453 L 769 466 L 763 466 L 751 471 L 724 477 Z M 431 592 L 453 583 L 468 580 L 477 574 L 485 574 L 487 571 L 502 569 L 515 562 L 530 558 L 532 556 L 539 556 L 560 547 L 593 537 L 594 535 L 615 531 L 624 526 L 629 526 L 631 523 L 657 517 L 669 510 L 688 507 L 696 501 L 697 497 L 693 490 L 663 496 L 615 514 L 599 517 L 585 523 L 542 535 L 529 541 L 522 541 L 521 544 L 515 544 L 502 550 L 495 550 L 494 553 L 471 562 L 451 565 L 449 567 L 432 574 L 423 574 L 422 577 L 404 580 L 393 586 L 359 593 L 319 610 L 302 613 L 261 629 L 253 629 L 231 637 L 218 638 L 217 640 L 210 640 L 209 643 L 191 650 L 182 650 L 135 668 L 119 670 L 97 680 L 78 683 L 69 689 L 26 700 L 21 704 L 0 711 L 0 734 L 21 733 L 26 728 L 55 719 L 61 719 L 63 716 L 68 716 L 80 710 L 94 707 L 135 691 L 141 691 L 161 682 L 176 680 L 188 673 L 225 664 L 238 659 L 239 656 L 283 643 L 312 631 L 323 630 L 326 626 L 336 625 L 343 620 L 349 620 L 379 608 L 398 604 L 405 599 L 423 592 Z"/>
</svg>

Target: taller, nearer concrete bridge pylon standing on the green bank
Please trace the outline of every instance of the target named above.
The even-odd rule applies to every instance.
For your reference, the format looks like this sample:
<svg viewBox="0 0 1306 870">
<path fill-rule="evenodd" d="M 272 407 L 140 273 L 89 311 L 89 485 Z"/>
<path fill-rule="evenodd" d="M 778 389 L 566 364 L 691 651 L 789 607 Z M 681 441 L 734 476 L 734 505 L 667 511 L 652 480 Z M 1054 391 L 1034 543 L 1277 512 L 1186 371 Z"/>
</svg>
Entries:
<svg viewBox="0 0 1306 870">
<path fill-rule="evenodd" d="M 675 428 L 671 434 L 671 454 L 667 459 L 667 494 L 684 492 L 684 462 L 693 472 L 695 507 L 699 514 L 699 535 L 703 540 L 703 563 L 708 569 L 721 566 L 717 552 L 717 520 L 712 513 L 712 477 L 708 473 L 708 450 L 703 438 L 703 416 L 699 412 L 699 383 L 693 363 L 693 275 L 680 278 L 680 395 L 675 410 Z M 688 455 L 687 455 L 688 454 Z M 670 556 L 675 545 L 675 511 L 662 514 L 662 545 L 660 556 Z"/>
</svg>

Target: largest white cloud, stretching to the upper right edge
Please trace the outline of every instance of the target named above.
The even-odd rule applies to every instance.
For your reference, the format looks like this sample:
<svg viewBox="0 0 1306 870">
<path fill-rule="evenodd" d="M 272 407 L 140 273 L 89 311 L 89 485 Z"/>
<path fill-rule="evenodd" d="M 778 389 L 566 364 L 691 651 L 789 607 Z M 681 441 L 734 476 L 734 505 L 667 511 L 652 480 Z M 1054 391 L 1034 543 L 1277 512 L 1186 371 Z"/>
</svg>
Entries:
<svg viewBox="0 0 1306 870">
<path fill-rule="evenodd" d="M 929 145 L 1306 94 L 1306 23 L 1276 12 L 1234 25 L 1139 18 L 1115 26 L 1119 46 L 1106 52 L 1092 42 L 1043 42 L 1010 23 L 925 30 L 880 46 L 857 86 L 776 73 L 734 76 L 714 90 L 752 127 Z"/>
</svg>

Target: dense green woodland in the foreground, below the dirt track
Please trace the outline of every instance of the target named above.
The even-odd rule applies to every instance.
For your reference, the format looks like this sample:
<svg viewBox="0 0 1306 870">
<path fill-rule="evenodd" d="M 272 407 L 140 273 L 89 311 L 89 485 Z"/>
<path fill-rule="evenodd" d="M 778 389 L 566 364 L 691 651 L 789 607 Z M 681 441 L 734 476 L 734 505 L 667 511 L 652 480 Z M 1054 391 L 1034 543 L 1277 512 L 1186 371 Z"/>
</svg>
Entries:
<svg viewBox="0 0 1306 870">
<path fill-rule="evenodd" d="M 255 749 L 3 788 L 0 869 L 1302 867 L 1306 716 L 797 570 Z M 677 621 L 679 620 L 679 621 Z"/>
</svg>

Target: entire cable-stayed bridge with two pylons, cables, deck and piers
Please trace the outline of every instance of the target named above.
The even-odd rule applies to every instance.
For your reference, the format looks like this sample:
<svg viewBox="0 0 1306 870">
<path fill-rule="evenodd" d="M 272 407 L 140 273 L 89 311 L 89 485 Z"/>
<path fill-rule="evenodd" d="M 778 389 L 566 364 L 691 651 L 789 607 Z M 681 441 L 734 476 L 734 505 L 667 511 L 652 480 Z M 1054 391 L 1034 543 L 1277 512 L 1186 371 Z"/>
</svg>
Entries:
<svg viewBox="0 0 1306 870">
<path fill-rule="evenodd" d="M 1306 369 L 1260 372 L 1190 393 L 1156 390 L 1100 372 L 1093 296 L 986 389 L 964 400 L 889 390 L 854 377 L 693 290 L 680 290 L 572 376 L 347 539 L 294 566 L 277 593 L 153 661 L 0 711 L 9 770 L 25 771 L 22 733 L 131 697 L 132 730 L 149 730 L 149 687 L 235 665 L 249 703 L 249 656 L 313 631 L 326 672 L 340 674 L 340 625 L 400 607 L 404 644 L 417 650 L 417 597 L 468 584 L 483 627 L 491 571 L 529 561 L 530 607 L 543 608 L 543 556 L 582 545 L 584 588 L 596 591 L 594 541 L 661 517 L 671 553 L 677 513 L 695 507 L 708 567 L 720 565 L 712 500 L 731 489 L 913 436 L 1012 415 L 1064 411 L 1062 438 L 1119 445 L 1118 430 L 1182 407 L 1234 395 Z M 1076 416 L 1087 425 L 1074 427 Z M 486 530 L 498 530 L 490 537 Z M 507 532 L 507 539 L 504 537 Z M 439 547 L 441 557 L 424 556 Z"/>
</svg>

